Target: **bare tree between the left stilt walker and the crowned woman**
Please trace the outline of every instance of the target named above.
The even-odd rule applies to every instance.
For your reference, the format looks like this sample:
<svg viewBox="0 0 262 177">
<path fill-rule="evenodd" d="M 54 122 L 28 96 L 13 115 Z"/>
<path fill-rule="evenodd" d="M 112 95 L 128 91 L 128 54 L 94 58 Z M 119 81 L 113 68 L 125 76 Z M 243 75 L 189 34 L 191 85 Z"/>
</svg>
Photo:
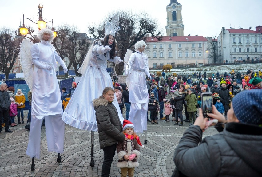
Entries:
<svg viewBox="0 0 262 177">
<path fill-rule="evenodd" d="M 76 26 L 60 25 L 56 30 L 58 35 L 53 44 L 58 55 L 62 59 L 67 57 L 69 59 L 67 68 L 73 66 L 76 75 L 80 75 L 77 71 L 82 65 L 90 45 L 87 35 L 81 36 Z"/>
</svg>

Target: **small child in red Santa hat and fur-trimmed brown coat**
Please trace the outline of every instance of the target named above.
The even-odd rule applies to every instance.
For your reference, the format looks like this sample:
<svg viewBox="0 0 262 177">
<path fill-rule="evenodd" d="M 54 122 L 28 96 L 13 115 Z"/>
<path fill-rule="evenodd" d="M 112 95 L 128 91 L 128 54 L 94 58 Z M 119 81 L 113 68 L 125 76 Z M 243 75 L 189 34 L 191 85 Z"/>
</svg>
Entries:
<svg viewBox="0 0 262 177">
<path fill-rule="evenodd" d="M 140 146 L 141 148 L 144 148 L 144 146 L 134 132 L 133 123 L 129 120 L 124 120 L 123 133 L 127 140 L 119 141 L 117 144 L 117 167 L 120 168 L 121 176 L 133 176 L 135 167 L 139 166 L 137 160 L 140 156 Z"/>
</svg>

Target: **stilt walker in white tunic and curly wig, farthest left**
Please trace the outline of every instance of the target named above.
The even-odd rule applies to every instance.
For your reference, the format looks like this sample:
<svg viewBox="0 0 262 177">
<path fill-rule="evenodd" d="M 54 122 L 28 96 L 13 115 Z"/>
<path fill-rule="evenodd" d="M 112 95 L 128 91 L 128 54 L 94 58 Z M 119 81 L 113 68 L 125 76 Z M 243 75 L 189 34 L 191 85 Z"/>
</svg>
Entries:
<svg viewBox="0 0 262 177">
<path fill-rule="evenodd" d="M 55 69 L 57 62 L 63 67 L 64 73 L 67 72 L 67 67 L 51 44 L 54 38 L 53 32 L 44 28 L 39 31 L 38 38 L 40 42 L 31 47 L 31 58 L 34 64 L 32 81 L 26 78 L 33 91 L 31 126 L 26 150 L 26 154 L 33 158 L 31 171 L 34 171 L 34 157 L 40 158 L 42 120 L 45 118 L 48 151 L 58 153 L 58 162 L 61 162 L 60 153 L 64 151 L 65 134 L 60 89 Z M 21 57 L 22 48 L 21 44 Z"/>
</svg>

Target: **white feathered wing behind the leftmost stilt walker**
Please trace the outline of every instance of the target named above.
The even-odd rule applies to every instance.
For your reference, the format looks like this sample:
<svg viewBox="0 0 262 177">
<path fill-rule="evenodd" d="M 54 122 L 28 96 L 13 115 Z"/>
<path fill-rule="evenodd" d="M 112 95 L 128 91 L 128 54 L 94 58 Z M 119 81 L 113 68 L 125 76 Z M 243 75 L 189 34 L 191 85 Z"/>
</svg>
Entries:
<svg viewBox="0 0 262 177">
<path fill-rule="evenodd" d="M 24 77 L 29 89 L 33 89 L 33 68 L 32 68 L 32 56 L 31 47 L 33 42 L 29 39 L 24 39 L 20 44 L 19 60 L 22 64 Z"/>
</svg>

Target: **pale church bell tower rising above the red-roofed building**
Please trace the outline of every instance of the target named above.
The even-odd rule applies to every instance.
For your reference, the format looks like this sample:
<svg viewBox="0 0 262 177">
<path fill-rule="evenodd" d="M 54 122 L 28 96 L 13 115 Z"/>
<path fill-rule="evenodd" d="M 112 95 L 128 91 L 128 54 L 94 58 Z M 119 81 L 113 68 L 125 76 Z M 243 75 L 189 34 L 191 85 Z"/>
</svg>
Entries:
<svg viewBox="0 0 262 177">
<path fill-rule="evenodd" d="M 167 22 L 165 29 L 167 36 L 184 36 L 181 10 L 182 5 L 177 0 L 170 0 L 169 5 L 166 6 Z"/>
</svg>

